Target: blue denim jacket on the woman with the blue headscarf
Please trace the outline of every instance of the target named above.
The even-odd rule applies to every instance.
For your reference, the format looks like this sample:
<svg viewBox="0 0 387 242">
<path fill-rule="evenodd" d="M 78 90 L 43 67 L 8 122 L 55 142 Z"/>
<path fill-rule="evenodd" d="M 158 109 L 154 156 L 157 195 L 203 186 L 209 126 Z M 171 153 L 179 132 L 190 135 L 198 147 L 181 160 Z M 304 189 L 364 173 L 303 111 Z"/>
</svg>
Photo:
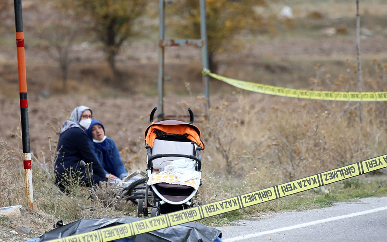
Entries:
<svg viewBox="0 0 387 242">
<path fill-rule="evenodd" d="M 118 149 L 117 149 L 115 142 L 113 141 L 113 139 L 110 139 L 110 138 L 106 138 L 105 141 L 108 142 L 108 145 L 110 147 L 108 152 L 110 154 L 110 157 L 113 160 L 114 170 L 108 169 L 108 165 L 106 164 L 106 161 L 104 161 L 104 159 L 103 159 L 102 151 L 97 149 L 96 146 L 94 145 L 94 142 L 89 139 L 89 145 L 91 147 L 91 151 L 97 157 L 99 163 L 103 167 L 106 174 L 113 174 L 120 179 L 122 177 L 126 177 L 127 173 L 125 170 L 125 166 L 122 163 L 121 156 L 120 156 L 120 153 L 118 152 Z"/>
</svg>

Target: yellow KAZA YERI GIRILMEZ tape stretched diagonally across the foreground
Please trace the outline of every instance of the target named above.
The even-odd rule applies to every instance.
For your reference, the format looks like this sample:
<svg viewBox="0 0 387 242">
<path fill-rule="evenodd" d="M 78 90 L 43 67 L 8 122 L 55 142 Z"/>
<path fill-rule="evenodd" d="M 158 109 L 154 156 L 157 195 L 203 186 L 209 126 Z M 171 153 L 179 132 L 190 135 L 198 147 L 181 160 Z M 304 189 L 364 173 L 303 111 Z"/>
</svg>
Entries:
<svg viewBox="0 0 387 242">
<path fill-rule="evenodd" d="M 246 208 L 385 167 L 387 167 L 387 154 L 195 208 L 146 218 L 128 224 L 101 228 L 61 239 L 53 239 L 48 242 L 107 242 L 121 239 Z"/>
</svg>

